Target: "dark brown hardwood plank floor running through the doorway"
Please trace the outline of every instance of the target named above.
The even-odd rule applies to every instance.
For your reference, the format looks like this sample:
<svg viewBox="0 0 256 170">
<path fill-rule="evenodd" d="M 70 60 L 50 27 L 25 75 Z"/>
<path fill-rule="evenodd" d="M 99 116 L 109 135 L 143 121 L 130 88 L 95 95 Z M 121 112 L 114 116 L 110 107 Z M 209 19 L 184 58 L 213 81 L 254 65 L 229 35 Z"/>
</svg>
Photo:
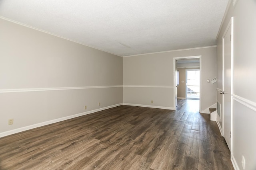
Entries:
<svg viewBox="0 0 256 170">
<path fill-rule="evenodd" d="M 232 170 L 216 122 L 198 106 L 119 106 L 2 137 L 0 169 Z"/>
</svg>

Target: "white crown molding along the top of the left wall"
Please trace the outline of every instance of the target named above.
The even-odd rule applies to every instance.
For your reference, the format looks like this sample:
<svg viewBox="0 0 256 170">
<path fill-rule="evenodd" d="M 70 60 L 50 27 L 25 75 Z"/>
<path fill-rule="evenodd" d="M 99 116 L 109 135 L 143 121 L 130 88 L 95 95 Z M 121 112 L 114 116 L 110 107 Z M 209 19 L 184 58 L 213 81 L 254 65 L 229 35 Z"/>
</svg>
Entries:
<svg viewBox="0 0 256 170">
<path fill-rule="evenodd" d="M 117 55 L 117 54 L 114 54 L 114 53 L 110 53 L 110 52 L 108 52 L 108 51 L 104 51 L 104 50 L 102 50 L 102 49 L 98 49 L 98 48 L 95 48 L 95 47 L 86 45 L 86 44 L 81 43 L 81 42 L 79 42 L 79 41 L 74 41 L 74 40 L 72 40 L 72 39 L 68 39 L 68 38 L 66 38 L 66 37 L 62 37 L 62 36 L 60 36 L 60 35 L 56 35 L 56 34 L 54 34 L 54 33 L 50 33 L 50 32 L 48 32 L 48 31 L 44 31 L 44 30 L 42 30 L 42 29 L 39 29 L 39 28 L 36 28 L 36 27 L 32 27 L 32 26 L 26 25 L 26 24 L 24 24 L 24 23 L 20 23 L 20 22 L 14 21 L 14 20 L 10 20 L 9 18 L 5 18 L 5 17 L 3 17 L 3 16 L 0 16 L 0 18 L 3 19 L 3 20 L 6 20 L 6 21 L 10 21 L 10 22 L 12 22 L 12 23 L 16 23 L 16 24 L 18 24 L 18 25 L 22 25 L 22 26 L 24 26 L 24 27 L 28 27 L 28 28 L 31 28 L 31 29 L 35 29 L 35 30 L 37 30 L 37 31 L 41 31 L 41 32 L 43 32 L 43 33 L 47 33 L 47 34 L 53 35 L 53 36 L 55 36 L 55 37 L 59 37 L 59 38 L 62 38 L 62 39 L 66 39 L 66 40 L 72 41 L 72 42 L 74 42 L 74 43 L 78 43 L 78 44 L 81 44 L 81 45 L 84 45 L 84 46 L 87 46 L 87 47 L 90 47 L 90 48 L 93 48 L 93 49 L 96 49 L 96 50 L 100 50 L 100 51 L 103 51 L 103 52 L 105 52 L 105 53 L 109 53 L 109 54 L 112 54 L 112 55 L 116 55 L 116 56 L 118 56 L 118 57 L 122 57 L 122 56 L 120 56 L 120 55 Z"/>
</svg>

